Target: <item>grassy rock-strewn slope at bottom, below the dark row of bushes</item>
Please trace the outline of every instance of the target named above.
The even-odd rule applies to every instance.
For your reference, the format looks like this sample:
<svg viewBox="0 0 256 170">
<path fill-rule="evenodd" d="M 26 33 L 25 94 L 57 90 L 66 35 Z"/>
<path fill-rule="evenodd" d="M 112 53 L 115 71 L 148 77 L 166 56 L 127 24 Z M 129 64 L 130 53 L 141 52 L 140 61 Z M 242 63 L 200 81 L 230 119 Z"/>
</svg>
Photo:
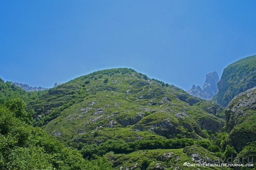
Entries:
<svg viewBox="0 0 256 170">
<path fill-rule="evenodd" d="M 188 169 L 194 170 L 197 167 L 184 166 L 185 162 L 189 163 L 213 163 L 217 162 L 214 158 L 217 154 L 209 152 L 201 146 L 189 146 L 181 149 L 154 149 L 154 150 L 139 150 L 129 154 L 114 154 L 113 152 L 107 153 L 108 158 L 114 164 L 115 170 L 120 170 L 121 166 L 125 165 L 122 169 Z M 132 161 L 131 161 L 132 160 Z M 193 161 L 194 160 L 194 161 Z M 199 167 L 200 169 L 226 169 L 229 167 Z"/>
</svg>

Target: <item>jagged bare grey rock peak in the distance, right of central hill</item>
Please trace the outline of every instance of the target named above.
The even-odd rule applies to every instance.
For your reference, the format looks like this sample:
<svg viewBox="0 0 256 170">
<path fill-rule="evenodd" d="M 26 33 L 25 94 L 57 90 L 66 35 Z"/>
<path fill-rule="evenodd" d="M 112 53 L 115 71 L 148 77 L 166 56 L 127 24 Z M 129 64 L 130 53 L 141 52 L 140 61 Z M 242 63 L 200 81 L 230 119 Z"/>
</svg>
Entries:
<svg viewBox="0 0 256 170">
<path fill-rule="evenodd" d="M 211 100 L 214 95 L 218 93 L 217 83 L 220 81 L 220 78 L 216 71 L 208 73 L 206 75 L 206 80 L 203 86 L 203 89 L 200 86 L 193 85 L 190 90 L 187 90 L 187 93 L 201 99 Z"/>
</svg>

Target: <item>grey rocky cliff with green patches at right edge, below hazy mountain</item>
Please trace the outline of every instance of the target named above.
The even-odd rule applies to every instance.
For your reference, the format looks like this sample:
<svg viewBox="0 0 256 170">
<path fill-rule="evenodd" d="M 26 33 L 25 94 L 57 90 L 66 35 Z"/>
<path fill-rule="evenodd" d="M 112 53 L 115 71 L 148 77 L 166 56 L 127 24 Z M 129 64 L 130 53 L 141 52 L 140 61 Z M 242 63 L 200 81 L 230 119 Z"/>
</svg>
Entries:
<svg viewBox="0 0 256 170">
<path fill-rule="evenodd" d="M 226 107 L 227 142 L 241 151 L 256 140 L 256 87 L 240 93 Z"/>
</svg>

